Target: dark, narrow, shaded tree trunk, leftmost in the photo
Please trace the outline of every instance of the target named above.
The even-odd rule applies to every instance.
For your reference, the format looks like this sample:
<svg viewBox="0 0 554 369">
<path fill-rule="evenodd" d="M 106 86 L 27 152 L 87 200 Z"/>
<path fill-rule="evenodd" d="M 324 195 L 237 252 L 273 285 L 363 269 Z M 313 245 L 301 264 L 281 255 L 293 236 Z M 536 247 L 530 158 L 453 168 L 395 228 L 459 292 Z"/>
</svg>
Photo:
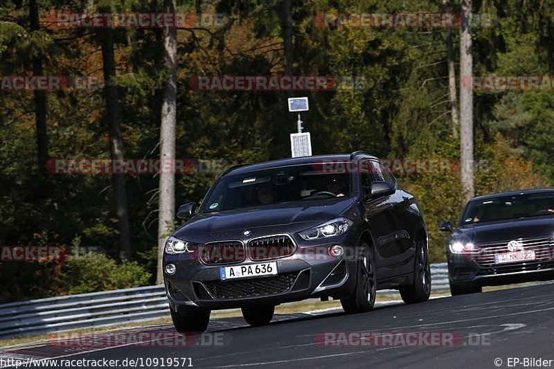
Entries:
<svg viewBox="0 0 554 369">
<path fill-rule="evenodd" d="M 40 29 L 39 8 L 36 0 L 29 0 L 30 28 L 33 32 Z M 33 55 L 33 75 L 42 75 L 42 52 Z M 37 150 L 39 172 L 46 172 L 48 161 L 48 129 L 46 128 L 46 93 L 34 91 L 35 98 L 35 124 L 37 127 Z"/>
</svg>

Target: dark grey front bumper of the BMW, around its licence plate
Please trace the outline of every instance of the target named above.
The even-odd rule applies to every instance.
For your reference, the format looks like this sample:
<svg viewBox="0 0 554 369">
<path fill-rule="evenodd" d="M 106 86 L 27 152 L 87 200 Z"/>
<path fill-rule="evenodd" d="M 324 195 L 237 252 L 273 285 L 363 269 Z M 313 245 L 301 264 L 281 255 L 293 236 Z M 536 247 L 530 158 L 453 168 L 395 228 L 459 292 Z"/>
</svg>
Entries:
<svg viewBox="0 0 554 369">
<path fill-rule="evenodd" d="M 291 236 L 292 237 L 292 236 Z M 332 240 L 304 241 L 295 237 L 296 252 L 286 258 L 246 260 L 239 264 L 206 265 L 191 255 L 163 256 L 163 267 L 175 265 L 175 273 L 164 272 L 166 294 L 170 306 L 203 309 L 230 309 L 247 305 L 278 305 L 306 298 L 332 296 L 341 298 L 355 288 L 357 262 L 355 251 L 346 245 L 355 244 L 351 236 L 332 237 Z M 245 242 L 245 244 L 247 244 Z M 345 254 L 333 257 L 330 246 L 340 244 Z M 221 280 L 220 267 L 276 262 L 277 276 Z"/>
</svg>

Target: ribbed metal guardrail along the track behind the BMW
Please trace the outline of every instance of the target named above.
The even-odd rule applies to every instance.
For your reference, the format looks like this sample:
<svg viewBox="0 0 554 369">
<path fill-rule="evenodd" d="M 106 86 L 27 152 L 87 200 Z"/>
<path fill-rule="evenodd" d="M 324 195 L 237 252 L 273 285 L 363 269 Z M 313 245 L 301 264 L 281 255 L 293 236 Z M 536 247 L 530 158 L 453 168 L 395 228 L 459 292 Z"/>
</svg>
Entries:
<svg viewBox="0 0 554 369">
<path fill-rule="evenodd" d="M 448 290 L 447 264 L 431 264 L 432 292 Z M 379 296 L 397 296 L 384 290 Z M 93 292 L 0 305 L 0 339 L 169 316 L 163 285 Z"/>
</svg>

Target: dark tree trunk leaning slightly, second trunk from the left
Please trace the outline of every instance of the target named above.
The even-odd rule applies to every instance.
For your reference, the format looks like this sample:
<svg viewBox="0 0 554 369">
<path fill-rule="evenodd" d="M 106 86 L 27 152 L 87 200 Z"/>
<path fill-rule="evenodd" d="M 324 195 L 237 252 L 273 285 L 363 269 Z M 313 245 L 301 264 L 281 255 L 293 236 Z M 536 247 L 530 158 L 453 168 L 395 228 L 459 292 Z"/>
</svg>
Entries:
<svg viewBox="0 0 554 369">
<path fill-rule="evenodd" d="M 111 160 L 123 161 L 123 135 L 119 116 L 119 97 L 115 84 L 116 62 L 114 57 L 114 33 L 111 28 L 98 31 L 102 39 L 102 64 L 105 80 L 106 113 L 109 127 L 109 148 Z M 125 174 L 111 174 L 116 199 L 116 213 L 119 231 L 119 256 L 121 260 L 131 258 L 131 242 L 129 232 L 129 210 L 127 209 L 127 190 L 125 189 Z"/>
</svg>

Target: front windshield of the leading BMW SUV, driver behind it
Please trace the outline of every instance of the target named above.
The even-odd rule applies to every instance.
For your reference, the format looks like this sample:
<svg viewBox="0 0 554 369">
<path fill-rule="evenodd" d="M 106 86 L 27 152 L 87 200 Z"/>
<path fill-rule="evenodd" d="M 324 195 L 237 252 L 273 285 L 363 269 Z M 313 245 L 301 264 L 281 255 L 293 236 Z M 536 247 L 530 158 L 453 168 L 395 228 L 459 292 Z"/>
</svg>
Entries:
<svg viewBox="0 0 554 369">
<path fill-rule="evenodd" d="M 204 212 L 350 196 L 350 177 L 348 173 L 325 172 L 318 165 L 231 174 L 217 182 Z"/>
</svg>

